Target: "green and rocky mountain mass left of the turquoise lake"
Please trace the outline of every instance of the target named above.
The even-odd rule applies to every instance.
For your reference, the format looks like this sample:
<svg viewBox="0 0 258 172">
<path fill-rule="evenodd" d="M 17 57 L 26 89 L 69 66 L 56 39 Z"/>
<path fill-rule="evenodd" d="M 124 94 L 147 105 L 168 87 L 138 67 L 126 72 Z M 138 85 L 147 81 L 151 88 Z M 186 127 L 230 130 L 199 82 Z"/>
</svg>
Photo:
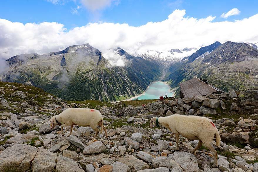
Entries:
<svg viewBox="0 0 258 172">
<path fill-rule="evenodd" d="M 89 44 L 43 55 L 21 54 L 6 60 L 9 69 L 1 79 L 37 86 L 68 100 L 118 101 L 142 93 L 161 76 L 154 62 L 121 48 L 112 53 L 125 59 L 126 65 L 113 66 Z"/>
</svg>

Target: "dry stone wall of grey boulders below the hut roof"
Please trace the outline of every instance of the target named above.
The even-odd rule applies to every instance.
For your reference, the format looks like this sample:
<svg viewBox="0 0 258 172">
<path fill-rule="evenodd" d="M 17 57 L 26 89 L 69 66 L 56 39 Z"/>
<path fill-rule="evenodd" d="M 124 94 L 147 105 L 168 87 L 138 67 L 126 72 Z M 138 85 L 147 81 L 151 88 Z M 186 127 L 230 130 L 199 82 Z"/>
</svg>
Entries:
<svg viewBox="0 0 258 172">
<path fill-rule="evenodd" d="M 172 100 L 153 101 L 141 107 L 128 106 L 120 109 L 124 116 L 142 113 L 182 115 L 258 113 L 258 88 L 221 94 L 208 94 L 192 98 L 174 98 Z"/>
</svg>

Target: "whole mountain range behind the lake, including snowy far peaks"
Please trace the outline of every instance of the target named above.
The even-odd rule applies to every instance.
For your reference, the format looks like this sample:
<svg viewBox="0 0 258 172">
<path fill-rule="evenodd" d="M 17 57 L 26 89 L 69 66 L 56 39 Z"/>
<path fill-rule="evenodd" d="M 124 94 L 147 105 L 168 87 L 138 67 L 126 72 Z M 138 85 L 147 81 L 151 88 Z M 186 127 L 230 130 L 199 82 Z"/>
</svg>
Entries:
<svg viewBox="0 0 258 172">
<path fill-rule="evenodd" d="M 82 44 L 13 56 L 5 61 L 1 81 L 37 86 L 67 100 L 119 101 L 143 93 L 162 74 L 172 88 L 193 77 L 207 78 L 224 91 L 252 88 L 258 86 L 257 58 L 255 44 L 231 41 L 138 56 L 119 47 L 102 53 Z"/>
</svg>

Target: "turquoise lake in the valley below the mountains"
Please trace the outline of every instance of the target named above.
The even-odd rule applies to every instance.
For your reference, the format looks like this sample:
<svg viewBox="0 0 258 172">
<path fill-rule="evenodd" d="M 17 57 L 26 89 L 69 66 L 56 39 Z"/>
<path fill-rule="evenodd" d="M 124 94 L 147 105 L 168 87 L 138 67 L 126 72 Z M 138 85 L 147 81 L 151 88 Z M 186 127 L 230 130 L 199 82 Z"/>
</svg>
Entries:
<svg viewBox="0 0 258 172">
<path fill-rule="evenodd" d="M 137 97 L 139 100 L 146 99 L 158 99 L 160 96 L 164 96 L 167 93 L 168 97 L 174 96 L 174 92 L 170 91 L 171 87 L 162 81 L 157 81 L 149 85 L 145 90 L 145 94 Z"/>
</svg>

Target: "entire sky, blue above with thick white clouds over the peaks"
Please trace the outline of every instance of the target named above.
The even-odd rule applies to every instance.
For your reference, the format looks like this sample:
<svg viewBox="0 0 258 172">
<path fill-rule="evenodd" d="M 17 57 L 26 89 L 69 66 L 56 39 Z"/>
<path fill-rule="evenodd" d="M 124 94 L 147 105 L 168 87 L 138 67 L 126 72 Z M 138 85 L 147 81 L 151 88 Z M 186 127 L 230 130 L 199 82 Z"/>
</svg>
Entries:
<svg viewBox="0 0 258 172">
<path fill-rule="evenodd" d="M 257 6 L 240 0 L 3 0 L 0 59 L 86 43 L 114 64 L 120 57 L 109 50 L 116 47 L 137 55 L 215 41 L 258 45 Z"/>
</svg>

